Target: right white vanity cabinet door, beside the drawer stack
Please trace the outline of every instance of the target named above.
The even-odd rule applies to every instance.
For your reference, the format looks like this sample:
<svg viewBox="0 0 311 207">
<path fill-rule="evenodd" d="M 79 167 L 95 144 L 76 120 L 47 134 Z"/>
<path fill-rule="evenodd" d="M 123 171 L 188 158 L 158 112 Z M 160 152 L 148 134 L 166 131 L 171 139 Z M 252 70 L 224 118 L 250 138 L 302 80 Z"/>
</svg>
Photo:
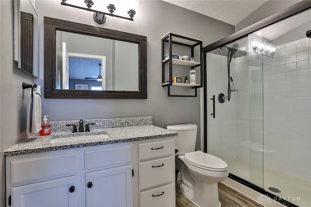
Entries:
<svg viewBox="0 0 311 207">
<path fill-rule="evenodd" d="M 86 173 L 87 207 L 132 207 L 132 165 Z"/>
</svg>

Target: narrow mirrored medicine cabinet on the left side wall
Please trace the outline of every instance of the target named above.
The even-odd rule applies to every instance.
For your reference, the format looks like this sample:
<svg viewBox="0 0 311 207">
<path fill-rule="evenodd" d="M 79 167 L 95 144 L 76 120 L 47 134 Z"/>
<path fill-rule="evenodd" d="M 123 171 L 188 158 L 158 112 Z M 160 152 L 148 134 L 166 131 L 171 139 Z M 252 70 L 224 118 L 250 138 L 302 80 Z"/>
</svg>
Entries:
<svg viewBox="0 0 311 207">
<path fill-rule="evenodd" d="M 14 0 L 14 59 L 18 68 L 38 77 L 38 15 L 33 0 Z"/>
</svg>

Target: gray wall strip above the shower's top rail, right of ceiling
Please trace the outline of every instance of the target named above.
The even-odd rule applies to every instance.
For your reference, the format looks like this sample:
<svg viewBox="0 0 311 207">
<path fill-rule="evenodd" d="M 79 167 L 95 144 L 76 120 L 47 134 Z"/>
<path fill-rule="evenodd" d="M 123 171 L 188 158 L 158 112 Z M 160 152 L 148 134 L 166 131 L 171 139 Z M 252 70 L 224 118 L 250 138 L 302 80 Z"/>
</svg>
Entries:
<svg viewBox="0 0 311 207">
<path fill-rule="evenodd" d="M 268 0 L 257 10 L 235 25 L 235 32 L 238 32 L 239 30 L 242 30 L 243 28 L 248 27 L 266 17 L 270 17 L 271 15 L 288 8 L 299 1 L 301 0 Z"/>
</svg>

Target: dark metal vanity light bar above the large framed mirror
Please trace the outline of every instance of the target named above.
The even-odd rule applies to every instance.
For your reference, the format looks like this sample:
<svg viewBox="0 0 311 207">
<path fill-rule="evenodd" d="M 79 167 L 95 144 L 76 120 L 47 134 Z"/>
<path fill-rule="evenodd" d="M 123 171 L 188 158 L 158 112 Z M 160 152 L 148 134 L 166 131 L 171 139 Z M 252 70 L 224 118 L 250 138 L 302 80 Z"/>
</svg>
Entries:
<svg viewBox="0 0 311 207">
<path fill-rule="evenodd" d="M 91 7 L 92 7 L 92 5 L 94 5 L 94 0 L 85 0 L 84 1 L 86 3 L 86 7 L 87 8 L 69 4 L 69 3 L 66 3 L 66 1 L 67 0 L 61 0 L 60 4 L 64 5 L 64 6 L 71 6 L 71 7 L 74 7 L 74 8 L 83 9 L 83 10 L 86 10 L 86 11 L 89 11 L 89 12 L 94 12 L 93 18 L 99 24 L 104 24 L 105 23 L 106 15 L 111 16 L 111 17 L 124 18 L 124 19 L 128 19 L 130 21 L 133 21 L 134 20 L 133 17 L 136 14 L 135 10 L 129 9 L 127 11 L 127 14 L 130 17 L 122 17 L 122 16 L 119 16 L 119 15 L 114 15 L 113 12 L 116 10 L 116 7 L 113 4 L 108 4 L 107 5 L 107 9 L 109 10 L 109 13 L 93 10 L 93 9 L 91 9 Z"/>
</svg>

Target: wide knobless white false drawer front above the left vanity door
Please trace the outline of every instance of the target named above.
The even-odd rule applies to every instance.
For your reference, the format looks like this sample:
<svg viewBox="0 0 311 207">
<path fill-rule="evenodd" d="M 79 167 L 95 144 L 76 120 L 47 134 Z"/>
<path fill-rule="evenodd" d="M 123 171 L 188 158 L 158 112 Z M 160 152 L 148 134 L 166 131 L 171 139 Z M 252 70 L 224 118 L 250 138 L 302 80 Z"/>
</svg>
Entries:
<svg viewBox="0 0 311 207">
<path fill-rule="evenodd" d="M 11 161 L 12 184 L 76 172 L 76 154 Z"/>
</svg>

